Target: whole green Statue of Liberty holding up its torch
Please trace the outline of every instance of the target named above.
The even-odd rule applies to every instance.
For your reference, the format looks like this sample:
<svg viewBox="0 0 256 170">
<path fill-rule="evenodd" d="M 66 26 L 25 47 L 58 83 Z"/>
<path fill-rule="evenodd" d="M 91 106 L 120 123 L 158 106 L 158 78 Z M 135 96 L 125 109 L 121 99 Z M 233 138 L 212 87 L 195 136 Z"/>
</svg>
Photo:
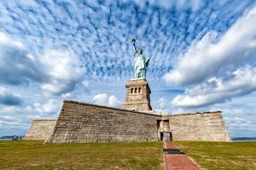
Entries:
<svg viewBox="0 0 256 170">
<path fill-rule="evenodd" d="M 136 39 L 131 40 L 134 50 L 134 71 L 136 78 L 146 78 L 146 67 L 148 66 L 149 58 L 146 59 L 143 55 L 143 49 L 137 48 L 135 45 Z"/>
</svg>

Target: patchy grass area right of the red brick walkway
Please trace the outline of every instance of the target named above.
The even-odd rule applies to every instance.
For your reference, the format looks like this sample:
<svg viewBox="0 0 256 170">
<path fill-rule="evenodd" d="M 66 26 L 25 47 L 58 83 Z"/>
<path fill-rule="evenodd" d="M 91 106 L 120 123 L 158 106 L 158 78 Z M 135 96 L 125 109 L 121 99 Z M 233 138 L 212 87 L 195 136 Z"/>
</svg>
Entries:
<svg viewBox="0 0 256 170">
<path fill-rule="evenodd" d="M 256 169 L 256 142 L 175 142 L 201 167 L 209 170 Z"/>
</svg>

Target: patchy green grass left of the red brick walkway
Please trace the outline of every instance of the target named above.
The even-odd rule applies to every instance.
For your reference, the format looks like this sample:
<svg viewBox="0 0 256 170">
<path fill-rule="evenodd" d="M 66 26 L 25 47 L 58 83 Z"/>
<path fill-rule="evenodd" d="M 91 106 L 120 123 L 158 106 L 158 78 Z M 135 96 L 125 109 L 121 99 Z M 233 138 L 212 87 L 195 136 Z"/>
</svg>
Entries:
<svg viewBox="0 0 256 170">
<path fill-rule="evenodd" d="M 0 142 L 0 169 L 161 169 L 161 142 Z"/>
</svg>

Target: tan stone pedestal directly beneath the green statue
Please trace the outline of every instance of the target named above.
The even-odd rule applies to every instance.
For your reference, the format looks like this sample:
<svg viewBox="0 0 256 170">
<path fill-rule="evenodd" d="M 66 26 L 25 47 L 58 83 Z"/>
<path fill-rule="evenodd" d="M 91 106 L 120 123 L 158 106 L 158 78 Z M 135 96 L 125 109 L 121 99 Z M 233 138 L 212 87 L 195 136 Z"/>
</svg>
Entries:
<svg viewBox="0 0 256 170">
<path fill-rule="evenodd" d="M 152 111 L 149 97 L 151 91 L 145 78 L 131 79 L 126 83 L 125 88 L 126 96 L 123 109 Z"/>
</svg>

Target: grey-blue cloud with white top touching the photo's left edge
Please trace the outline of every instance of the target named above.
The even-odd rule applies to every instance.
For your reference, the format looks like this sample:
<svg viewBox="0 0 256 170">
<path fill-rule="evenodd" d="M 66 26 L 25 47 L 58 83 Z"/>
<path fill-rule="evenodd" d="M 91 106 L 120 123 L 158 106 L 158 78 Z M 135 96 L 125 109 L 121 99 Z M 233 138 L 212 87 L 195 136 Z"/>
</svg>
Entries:
<svg viewBox="0 0 256 170">
<path fill-rule="evenodd" d="M 0 32 L 0 82 L 18 85 L 29 80 L 40 82 L 40 74 L 22 42 Z"/>
</svg>

